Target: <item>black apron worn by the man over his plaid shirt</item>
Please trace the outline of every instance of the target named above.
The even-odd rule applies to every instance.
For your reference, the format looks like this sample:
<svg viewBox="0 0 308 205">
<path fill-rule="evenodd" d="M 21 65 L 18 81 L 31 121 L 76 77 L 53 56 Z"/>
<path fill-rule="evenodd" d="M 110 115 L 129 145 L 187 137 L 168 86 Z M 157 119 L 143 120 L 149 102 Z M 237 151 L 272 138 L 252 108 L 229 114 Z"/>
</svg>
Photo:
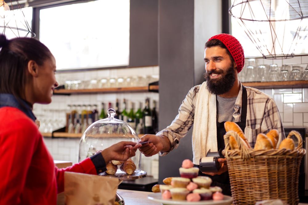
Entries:
<svg viewBox="0 0 308 205">
<path fill-rule="evenodd" d="M 242 85 L 242 110 L 241 110 L 241 121 L 236 122 L 236 124 L 243 130 L 245 131 L 246 127 L 246 115 L 247 115 L 247 91 L 245 87 Z M 226 133 L 225 130 L 225 122 L 216 122 L 217 126 L 217 150 L 225 149 L 225 141 L 224 141 L 224 135 Z M 199 165 L 195 165 L 196 167 L 199 167 Z M 212 179 L 212 184 L 211 186 L 218 186 L 222 188 L 222 193 L 224 195 L 229 195 L 231 196 L 231 186 L 230 186 L 230 179 L 229 179 L 229 172 L 226 171 L 222 173 L 221 175 L 207 175 L 203 174 L 199 170 L 199 175 L 201 176 L 208 176 Z"/>
</svg>

